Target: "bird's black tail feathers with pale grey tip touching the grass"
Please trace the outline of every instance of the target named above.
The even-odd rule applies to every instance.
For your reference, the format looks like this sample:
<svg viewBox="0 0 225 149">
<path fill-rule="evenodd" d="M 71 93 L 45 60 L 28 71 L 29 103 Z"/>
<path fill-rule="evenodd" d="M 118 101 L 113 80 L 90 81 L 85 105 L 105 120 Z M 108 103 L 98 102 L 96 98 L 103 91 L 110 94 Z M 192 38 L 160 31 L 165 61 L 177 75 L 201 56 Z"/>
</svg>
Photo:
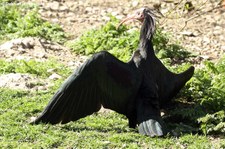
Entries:
<svg viewBox="0 0 225 149">
<path fill-rule="evenodd" d="M 166 134 L 160 116 L 158 87 L 151 78 L 145 77 L 136 101 L 138 131 L 151 137 Z"/>
</svg>

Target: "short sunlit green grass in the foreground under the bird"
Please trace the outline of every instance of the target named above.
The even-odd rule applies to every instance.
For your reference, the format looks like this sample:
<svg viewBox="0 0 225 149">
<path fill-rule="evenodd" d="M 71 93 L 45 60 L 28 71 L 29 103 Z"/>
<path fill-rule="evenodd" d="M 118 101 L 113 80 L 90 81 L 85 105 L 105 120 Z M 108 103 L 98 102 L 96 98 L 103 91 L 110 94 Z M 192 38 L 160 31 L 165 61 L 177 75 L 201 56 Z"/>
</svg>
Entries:
<svg viewBox="0 0 225 149">
<path fill-rule="evenodd" d="M 129 129 L 115 112 L 97 113 L 66 125 L 30 125 L 52 96 L 51 91 L 0 89 L 1 148 L 219 148 L 208 137 L 185 134 L 180 138 L 150 138 Z"/>
</svg>

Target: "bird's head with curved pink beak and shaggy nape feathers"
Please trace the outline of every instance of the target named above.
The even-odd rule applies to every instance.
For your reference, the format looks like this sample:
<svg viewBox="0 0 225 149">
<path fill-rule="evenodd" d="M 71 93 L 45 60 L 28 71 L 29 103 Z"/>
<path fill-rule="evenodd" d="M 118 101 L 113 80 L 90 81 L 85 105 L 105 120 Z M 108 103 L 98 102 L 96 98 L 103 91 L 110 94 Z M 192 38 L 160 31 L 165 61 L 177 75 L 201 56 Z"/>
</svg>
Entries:
<svg viewBox="0 0 225 149">
<path fill-rule="evenodd" d="M 148 7 L 136 10 L 133 14 L 123 19 L 118 27 L 129 20 L 138 20 L 142 23 L 141 38 L 151 39 L 155 32 L 156 11 Z"/>
</svg>

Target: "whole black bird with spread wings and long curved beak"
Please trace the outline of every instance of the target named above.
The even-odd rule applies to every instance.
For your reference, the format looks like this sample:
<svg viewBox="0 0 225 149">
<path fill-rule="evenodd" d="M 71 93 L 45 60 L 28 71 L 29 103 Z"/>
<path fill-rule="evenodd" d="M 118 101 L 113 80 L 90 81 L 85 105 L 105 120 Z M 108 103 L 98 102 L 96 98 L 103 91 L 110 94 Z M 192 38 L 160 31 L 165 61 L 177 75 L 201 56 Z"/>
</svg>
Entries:
<svg viewBox="0 0 225 149">
<path fill-rule="evenodd" d="M 142 8 L 123 22 L 130 19 L 143 23 L 139 47 L 131 60 L 124 63 L 106 51 L 94 54 L 64 82 L 32 124 L 76 121 L 103 106 L 124 114 L 129 127 L 138 125 L 141 134 L 167 133 L 160 108 L 192 77 L 194 67 L 174 74 L 155 56 L 152 10 Z"/>
</svg>

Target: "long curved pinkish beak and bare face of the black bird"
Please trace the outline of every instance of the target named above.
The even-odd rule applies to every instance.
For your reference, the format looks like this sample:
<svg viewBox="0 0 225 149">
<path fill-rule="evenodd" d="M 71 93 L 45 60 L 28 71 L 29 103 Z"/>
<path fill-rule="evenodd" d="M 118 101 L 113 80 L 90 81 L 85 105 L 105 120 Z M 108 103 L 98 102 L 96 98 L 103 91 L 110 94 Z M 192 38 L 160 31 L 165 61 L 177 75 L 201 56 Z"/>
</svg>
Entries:
<svg viewBox="0 0 225 149">
<path fill-rule="evenodd" d="M 117 29 L 125 22 L 129 21 L 129 20 L 138 20 L 140 22 L 144 21 L 144 14 L 143 14 L 143 8 L 139 9 L 138 11 L 136 11 L 136 13 L 128 16 L 127 18 L 123 19 L 120 24 L 117 26 Z"/>
</svg>

